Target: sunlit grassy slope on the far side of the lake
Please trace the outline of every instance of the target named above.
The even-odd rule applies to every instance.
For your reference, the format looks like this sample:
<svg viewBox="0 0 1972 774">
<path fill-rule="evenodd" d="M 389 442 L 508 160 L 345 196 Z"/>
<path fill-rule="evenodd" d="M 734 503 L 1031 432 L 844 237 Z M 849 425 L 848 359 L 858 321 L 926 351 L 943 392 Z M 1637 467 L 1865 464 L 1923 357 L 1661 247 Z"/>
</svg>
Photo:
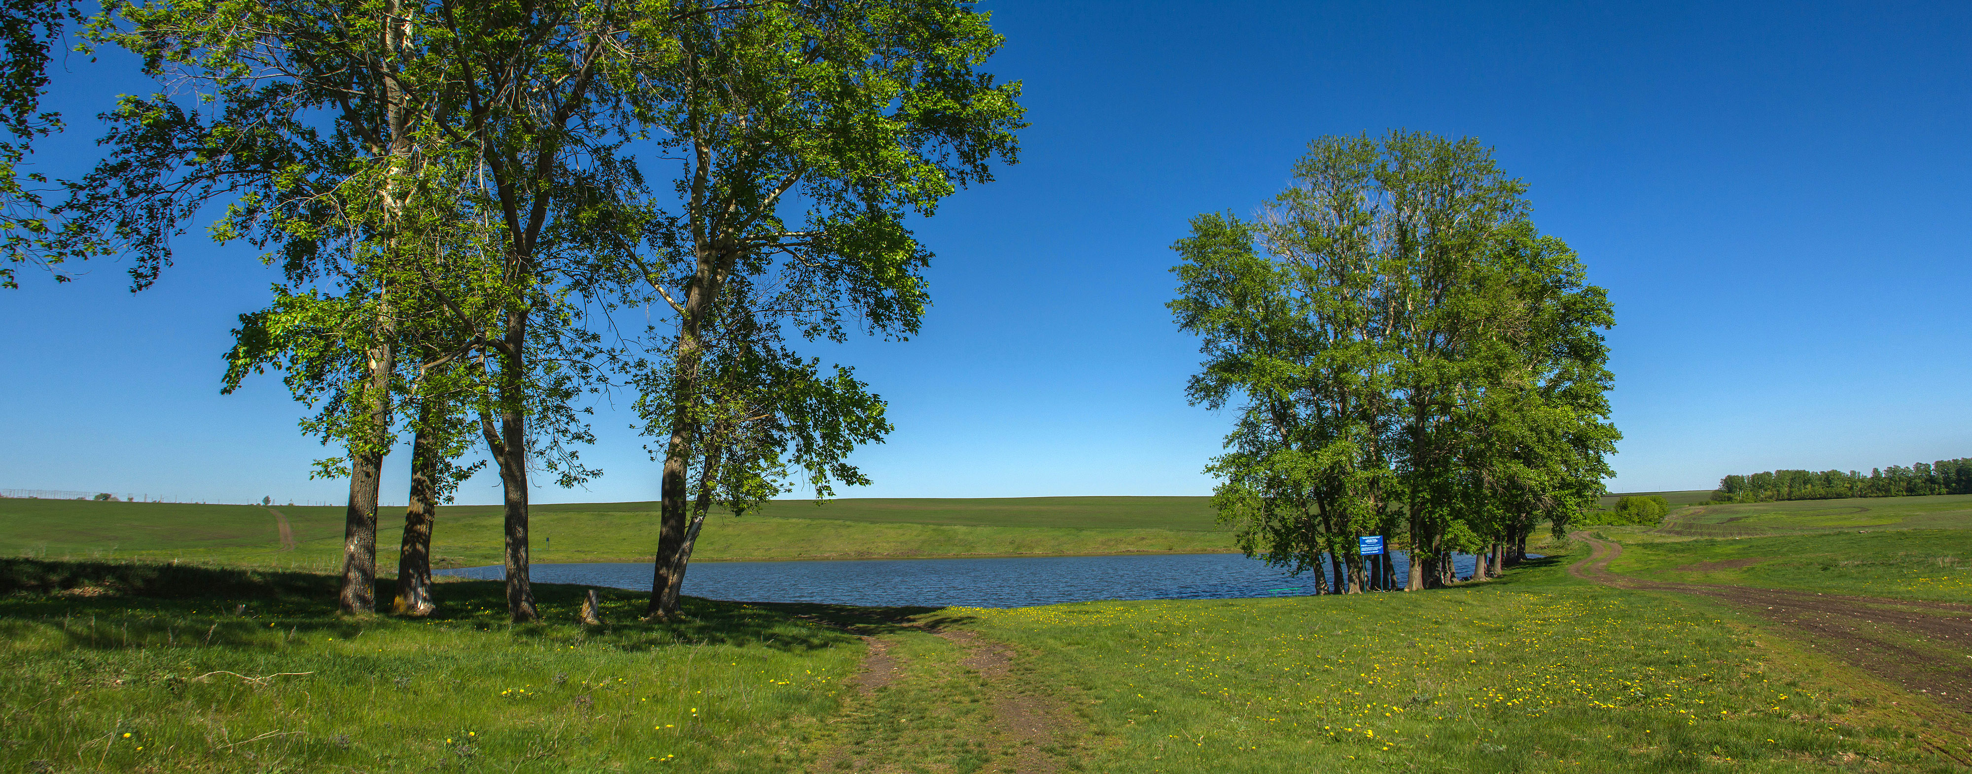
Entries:
<svg viewBox="0 0 1972 774">
<path fill-rule="evenodd" d="M 655 502 L 538 504 L 534 561 L 649 561 Z M 260 506 L 0 500 L 0 555 L 179 559 L 227 565 L 341 567 L 343 510 L 274 506 L 298 548 L 282 551 Z M 387 510 L 379 553 L 392 555 L 400 516 Z M 978 500 L 777 500 L 759 514 L 708 520 L 692 559 L 874 559 L 960 555 L 1096 555 L 1231 551 L 1231 532 L 1201 496 L 1063 496 Z M 501 561 L 497 506 L 442 506 L 434 563 Z"/>
</svg>

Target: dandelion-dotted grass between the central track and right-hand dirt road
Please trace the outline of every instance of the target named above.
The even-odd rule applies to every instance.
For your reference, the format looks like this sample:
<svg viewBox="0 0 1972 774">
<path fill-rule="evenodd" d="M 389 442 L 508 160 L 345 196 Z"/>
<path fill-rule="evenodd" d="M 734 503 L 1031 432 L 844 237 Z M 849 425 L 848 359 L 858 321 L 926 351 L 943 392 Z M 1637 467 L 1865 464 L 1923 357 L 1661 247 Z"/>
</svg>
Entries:
<svg viewBox="0 0 1972 774">
<path fill-rule="evenodd" d="M 1907 737 L 1938 707 L 1574 557 L 1434 593 L 966 613 L 1073 687 L 1102 772 L 1954 770 Z"/>
</svg>

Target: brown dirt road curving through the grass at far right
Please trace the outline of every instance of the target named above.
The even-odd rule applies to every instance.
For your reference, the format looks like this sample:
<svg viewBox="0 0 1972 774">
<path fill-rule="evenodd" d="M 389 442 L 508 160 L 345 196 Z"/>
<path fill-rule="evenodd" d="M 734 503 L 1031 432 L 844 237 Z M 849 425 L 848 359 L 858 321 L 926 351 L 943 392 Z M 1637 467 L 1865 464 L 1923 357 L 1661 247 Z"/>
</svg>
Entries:
<svg viewBox="0 0 1972 774">
<path fill-rule="evenodd" d="M 1570 575 L 1621 589 L 1678 591 L 1737 605 L 1802 634 L 1808 648 L 1966 713 L 1954 721 L 1938 719 L 1940 731 L 1958 739 L 1933 744 L 1960 762 L 1972 762 L 1972 746 L 1966 742 L 1972 735 L 1972 605 L 1643 581 L 1609 571 L 1609 561 L 1623 555 L 1623 546 L 1582 532 L 1574 538 L 1587 542 L 1591 551 L 1587 559 L 1568 567 Z"/>
</svg>

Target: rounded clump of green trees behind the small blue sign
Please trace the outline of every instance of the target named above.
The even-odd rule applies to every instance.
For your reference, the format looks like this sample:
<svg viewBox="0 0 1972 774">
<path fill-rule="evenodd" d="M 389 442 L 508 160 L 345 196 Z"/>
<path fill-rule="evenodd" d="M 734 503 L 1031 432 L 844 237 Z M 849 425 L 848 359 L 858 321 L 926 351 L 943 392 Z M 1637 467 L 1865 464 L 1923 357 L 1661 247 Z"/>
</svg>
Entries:
<svg viewBox="0 0 1972 774">
<path fill-rule="evenodd" d="M 1207 471 L 1248 555 L 1361 591 L 1382 534 L 1424 589 L 1597 502 L 1613 313 L 1524 191 L 1469 138 L 1321 138 L 1256 217 L 1191 221 L 1169 307 L 1203 339 L 1191 402 L 1236 410 Z"/>
</svg>

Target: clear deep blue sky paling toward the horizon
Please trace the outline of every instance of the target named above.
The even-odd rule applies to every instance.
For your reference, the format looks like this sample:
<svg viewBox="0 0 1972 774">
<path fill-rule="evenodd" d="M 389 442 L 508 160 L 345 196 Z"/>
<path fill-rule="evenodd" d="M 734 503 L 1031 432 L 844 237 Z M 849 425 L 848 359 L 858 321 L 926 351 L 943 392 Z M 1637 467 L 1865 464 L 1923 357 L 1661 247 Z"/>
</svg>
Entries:
<svg viewBox="0 0 1972 774">
<path fill-rule="evenodd" d="M 1321 134 L 1473 136 L 1609 288 L 1613 490 L 1972 457 L 1972 4 L 986 2 L 1025 81 L 1021 163 L 923 223 L 935 307 L 860 368 L 897 431 L 858 496 L 1207 494 L 1229 416 L 1185 406 L 1171 240 L 1246 213 Z M 71 57 L 55 106 L 146 89 Z M 343 502 L 274 378 L 219 396 L 272 270 L 199 234 L 158 288 L 116 264 L 0 291 L 0 486 Z M 601 406 L 590 490 L 657 467 Z M 392 455 L 387 502 L 404 502 Z M 497 502 L 491 475 L 459 502 Z"/>
</svg>

